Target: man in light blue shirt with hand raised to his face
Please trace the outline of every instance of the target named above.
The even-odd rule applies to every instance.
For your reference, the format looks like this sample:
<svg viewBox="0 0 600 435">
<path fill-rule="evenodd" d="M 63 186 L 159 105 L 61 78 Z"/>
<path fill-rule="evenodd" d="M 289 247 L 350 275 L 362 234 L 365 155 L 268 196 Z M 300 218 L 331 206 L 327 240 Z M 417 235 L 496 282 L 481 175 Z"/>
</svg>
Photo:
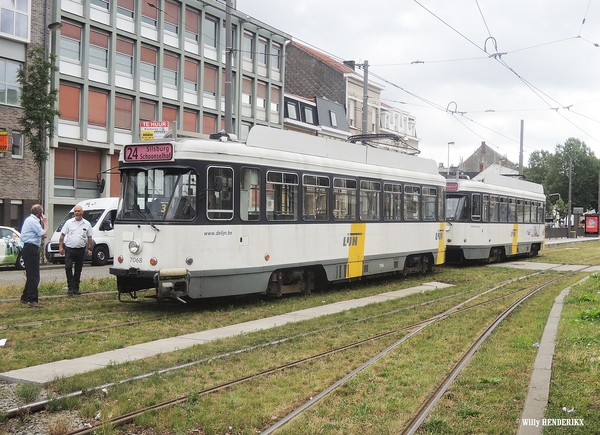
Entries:
<svg viewBox="0 0 600 435">
<path fill-rule="evenodd" d="M 31 207 L 31 214 L 23 222 L 21 241 L 23 242 L 23 261 L 27 281 L 21 296 L 21 303 L 29 308 L 42 308 L 38 302 L 38 285 L 40 284 L 40 245 L 48 236 L 48 218 L 40 204 Z"/>
</svg>

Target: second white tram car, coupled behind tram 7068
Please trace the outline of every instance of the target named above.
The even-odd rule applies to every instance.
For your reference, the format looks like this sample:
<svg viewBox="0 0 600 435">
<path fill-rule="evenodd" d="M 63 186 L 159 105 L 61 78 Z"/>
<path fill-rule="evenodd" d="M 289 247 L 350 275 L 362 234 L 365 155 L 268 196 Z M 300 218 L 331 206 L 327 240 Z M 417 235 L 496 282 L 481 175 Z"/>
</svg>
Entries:
<svg viewBox="0 0 600 435">
<path fill-rule="evenodd" d="M 446 263 L 501 261 L 545 247 L 546 196 L 540 184 L 488 174 L 446 184 Z"/>
</svg>

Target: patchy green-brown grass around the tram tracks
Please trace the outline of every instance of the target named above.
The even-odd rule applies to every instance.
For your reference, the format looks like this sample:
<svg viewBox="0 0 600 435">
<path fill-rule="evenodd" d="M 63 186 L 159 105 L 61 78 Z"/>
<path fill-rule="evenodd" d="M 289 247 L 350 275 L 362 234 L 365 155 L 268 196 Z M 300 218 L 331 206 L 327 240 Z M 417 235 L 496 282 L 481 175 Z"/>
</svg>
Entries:
<svg viewBox="0 0 600 435">
<path fill-rule="evenodd" d="M 578 251 L 580 251 L 580 261 L 573 261 L 573 263 L 584 264 L 581 261 L 582 252 L 579 249 Z M 585 260 L 585 258 L 583 259 Z M 551 261 L 545 260 L 545 262 Z M 58 359 L 73 358 L 150 339 L 210 329 L 338 300 L 364 297 L 396 290 L 400 287 L 412 287 L 424 281 L 437 280 L 456 284 L 456 287 L 437 290 L 429 294 L 412 295 L 397 301 L 352 310 L 335 316 L 220 340 L 143 361 L 111 366 L 105 370 L 56 381 L 49 386 L 54 394 L 63 394 L 188 361 L 211 358 L 228 351 L 268 343 L 282 337 L 321 331 L 306 337 L 298 336 L 278 346 L 259 348 L 243 354 L 211 360 L 184 371 L 152 376 L 145 381 L 109 388 L 107 393 L 89 393 L 79 399 L 55 403 L 52 408 L 57 410 L 74 408 L 81 416 L 90 420 L 99 411 L 104 418 L 111 415 L 116 416 L 142 405 L 150 405 L 168 398 L 200 391 L 208 386 L 260 372 L 265 368 L 293 361 L 358 338 L 413 323 L 429 317 L 432 313 L 438 313 L 453 306 L 459 299 L 466 298 L 468 294 L 491 287 L 509 277 L 523 274 L 524 271 L 502 268 L 436 268 L 435 273 L 427 277 L 367 281 L 358 285 L 337 287 L 327 292 L 313 294 L 311 297 L 241 300 L 234 303 L 200 304 L 186 307 L 159 306 L 155 302 L 119 304 L 115 300 L 114 294 L 46 301 L 44 310 L 35 311 L 15 306 L 18 304 L 4 303 L 0 304 L 0 319 L 2 319 L 0 323 L 9 326 L 27 320 L 57 320 L 76 315 L 81 316 L 85 313 L 97 315 L 102 312 L 119 311 L 126 311 L 128 314 L 123 317 L 129 319 L 164 318 L 133 327 L 82 333 L 78 334 L 76 338 L 66 336 L 44 339 L 44 334 L 48 334 L 49 331 L 60 332 L 65 327 L 67 329 L 81 328 L 82 324 L 86 322 L 83 319 L 71 321 L 74 326 L 64 325 L 69 323 L 68 321 L 57 321 L 49 325 L 45 324 L 43 328 L 38 327 L 38 329 L 34 326 L 9 327 L 0 331 L 2 337 L 14 334 L 9 336 L 12 338 L 9 338 L 7 347 L 1 350 L 3 358 L 0 361 L 0 370 L 7 370 L 5 367 L 13 364 L 13 360 L 18 361 L 15 364 L 18 367 L 52 360 L 54 353 L 61 355 Z M 575 280 L 572 278 L 570 282 Z M 430 416 L 420 433 L 514 433 L 515 421 L 520 417 L 530 370 L 537 350 L 533 343 L 540 340 L 541 331 L 554 297 L 566 285 L 568 283 L 561 282 L 546 289 L 542 295 L 536 296 L 534 300 L 527 303 L 526 307 L 518 310 L 511 316 L 508 324 L 492 335 L 490 344 L 484 345 L 484 348 L 476 354 L 475 359 L 445 395 L 443 403 Z M 523 286 L 522 283 L 516 283 L 511 286 L 511 289 L 514 290 L 521 286 Z M 0 287 L 0 289 L 2 288 Z M 2 291 L 5 290 L 2 289 Z M 10 291 L 8 292 L 10 293 Z M 14 290 L 12 291 L 14 292 Z M 19 289 L 17 297 L 20 291 Z M 54 290 L 51 289 L 47 294 L 52 294 L 52 291 Z M 92 291 L 91 288 L 90 291 Z M 509 290 L 507 289 L 507 291 Z M 45 290 L 41 289 L 41 293 L 44 294 L 44 292 Z M 360 323 L 351 323 L 356 319 L 376 316 L 393 309 L 402 309 L 426 300 L 453 294 L 457 296 L 425 307 L 400 311 L 395 315 L 365 320 Z M 581 301 L 578 302 L 578 304 L 581 303 Z M 594 302 L 590 303 L 593 305 Z M 568 306 L 570 305 L 568 304 L 565 309 Z M 597 302 L 595 307 L 598 308 Z M 465 320 L 465 317 L 453 316 L 446 322 L 429 328 L 419 339 L 410 340 L 394 350 L 374 366 L 344 384 L 333 395 L 293 420 L 278 433 L 397 433 L 406 417 L 414 407 L 420 404 L 425 394 L 435 387 L 438 379 L 448 370 L 470 338 L 484 328 L 500 310 L 490 312 L 489 307 L 482 307 L 474 311 L 472 316 L 469 315 L 468 321 Z M 581 311 L 581 306 L 579 311 Z M 520 316 L 521 320 L 519 320 Z M 112 318 L 111 321 L 116 321 L 114 318 L 118 316 L 96 316 L 93 317 L 94 320 L 91 321 L 91 324 L 103 324 L 105 322 L 103 317 L 109 317 Z M 122 320 L 119 319 L 119 321 Z M 565 382 L 568 388 L 564 388 L 564 393 L 572 394 L 571 397 L 577 397 L 578 394 L 589 394 L 591 398 L 600 397 L 597 386 L 598 361 L 595 359 L 600 358 L 597 352 L 600 339 L 597 335 L 598 320 L 595 322 L 595 324 L 593 321 L 590 322 L 591 326 L 588 326 L 591 329 L 587 330 L 584 335 L 578 335 L 584 337 L 581 343 L 584 343 L 585 346 L 588 342 L 592 343 L 592 348 L 596 346 L 596 353 L 592 352 L 588 358 L 590 363 L 596 361 L 596 369 L 584 373 L 584 376 L 589 376 L 585 379 L 590 380 L 591 390 L 579 386 L 581 382 L 579 377 L 576 381 L 575 378 L 565 377 L 562 382 Z M 57 325 L 63 323 L 63 329 L 54 323 Z M 580 323 L 574 323 L 579 332 L 582 329 Z M 596 335 L 594 335 L 594 325 Z M 104 428 L 102 432 L 98 433 L 133 434 L 142 433 L 143 430 L 146 434 L 223 434 L 228 431 L 229 427 L 232 428 L 232 433 L 256 433 L 257 430 L 265 429 L 278 418 L 286 415 L 294 407 L 310 400 L 323 388 L 380 352 L 401 335 L 399 333 L 351 351 L 232 387 L 220 393 L 209 396 L 192 395 L 187 403 L 150 413 L 126 429 Z M 31 337 L 35 337 L 35 339 L 32 340 Z M 19 345 L 20 338 L 23 340 Z M 566 343 L 577 346 L 579 342 L 571 338 Z M 577 355 L 581 355 L 581 351 L 588 350 L 589 346 L 583 347 L 584 345 L 581 343 L 579 343 L 579 347 L 566 351 L 566 354 L 569 355 L 565 359 L 566 367 L 570 366 L 571 360 L 576 359 Z M 8 358 L 4 358 L 4 356 L 8 356 Z M 557 358 L 559 357 L 560 346 L 557 349 Z M 591 365 L 593 366 L 593 364 Z M 555 363 L 555 367 L 558 367 L 558 363 Z M 572 367 L 569 367 L 569 370 L 572 370 Z M 581 371 L 583 370 L 577 370 L 576 374 L 581 376 Z M 555 393 L 552 394 L 554 397 Z M 569 402 L 568 398 L 567 396 L 564 400 L 559 400 L 560 403 L 556 405 L 557 412 L 551 417 L 563 415 L 564 411 L 558 412 L 562 406 L 579 406 L 580 402 L 561 405 Z M 593 402 L 593 399 L 591 401 Z M 551 402 L 548 415 L 553 409 L 552 399 Z M 594 412 L 597 414 L 597 402 L 595 406 Z M 583 408 L 584 406 L 578 409 Z M 570 417 L 575 418 L 572 414 L 568 414 L 565 418 Z M 577 416 L 577 418 L 581 418 L 581 416 Z M 587 418 L 591 419 L 592 417 Z M 590 420 L 590 422 L 592 421 L 594 420 Z M 597 422 L 597 420 L 595 421 Z M 590 427 L 594 426 L 587 426 L 588 429 Z M 589 433 L 589 430 L 580 433 Z"/>
</svg>

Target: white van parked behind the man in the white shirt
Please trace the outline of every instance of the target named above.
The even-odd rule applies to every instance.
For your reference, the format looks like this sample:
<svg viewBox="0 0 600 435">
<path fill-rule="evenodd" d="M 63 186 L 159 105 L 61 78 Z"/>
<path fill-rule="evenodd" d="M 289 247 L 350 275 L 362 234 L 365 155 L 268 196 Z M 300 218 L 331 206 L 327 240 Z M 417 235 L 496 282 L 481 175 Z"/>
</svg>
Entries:
<svg viewBox="0 0 600 435">
<path fill-rule="evenodd" d="M 83 208 L 83 218 L 88 220 L 94 229 L 94 249 L 92 251 L 92 264 L 94 266 L 103 266 L 108 260 L 113 258 L 113 242 L 115 239 L 114 223 L 117 217 L 117 206 L 119 198 L 95 198 L 86 199 L 77 205 Z M 60 240 L 60 231 L 63 225 L 74 214 L 71 209 L 62 220 L 60 225 L 54 231 L 52 238 L 46 244 L 46 259 L 50 263 L 64 262 L 65 256 L 58 252 L 58 242 Z M 86 257 L 86 260 L 90 260 Z"/>
</svg>

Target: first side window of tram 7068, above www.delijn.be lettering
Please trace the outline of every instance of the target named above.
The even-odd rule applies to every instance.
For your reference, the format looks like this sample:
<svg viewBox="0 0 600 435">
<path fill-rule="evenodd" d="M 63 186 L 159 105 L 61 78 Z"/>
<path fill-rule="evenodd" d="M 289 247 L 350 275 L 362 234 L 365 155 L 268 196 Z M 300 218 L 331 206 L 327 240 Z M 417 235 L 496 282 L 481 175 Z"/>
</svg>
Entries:
<svg viewBox="0 0 600 435">
<path fill-rule="evenodd" d="M 210 220 L 233 219 L 233 169 L 209 167 L 206 185 L 208 187 L 206 217 Z"/>
</svg>

